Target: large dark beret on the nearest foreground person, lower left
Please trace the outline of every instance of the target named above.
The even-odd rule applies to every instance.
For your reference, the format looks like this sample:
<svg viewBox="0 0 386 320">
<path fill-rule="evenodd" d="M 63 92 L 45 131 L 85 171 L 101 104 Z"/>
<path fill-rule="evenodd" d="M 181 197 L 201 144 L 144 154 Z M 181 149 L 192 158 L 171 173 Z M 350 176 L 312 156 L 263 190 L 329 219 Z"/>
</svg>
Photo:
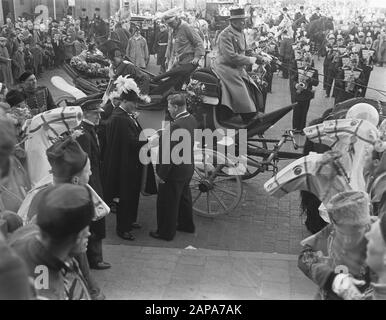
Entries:
<svg viewBox="0 0 386 320">
<path fill-rule="evenodd" d="M 87 186 L 62 183 L 41 192 L 36 224 L 43 232 L 61 239 L 90 225 L 95 209 Z"/>
</svg>

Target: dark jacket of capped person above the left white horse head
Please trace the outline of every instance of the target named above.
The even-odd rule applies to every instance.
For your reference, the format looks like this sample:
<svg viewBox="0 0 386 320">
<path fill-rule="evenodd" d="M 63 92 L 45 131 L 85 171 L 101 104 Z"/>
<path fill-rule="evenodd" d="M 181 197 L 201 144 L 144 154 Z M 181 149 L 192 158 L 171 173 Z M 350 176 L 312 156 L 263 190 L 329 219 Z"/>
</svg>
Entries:
<svg viewBox="0 0 386 320">
<path fill-rule="evenodd" d="M 47 87 L 37 87 L 33 92 L 23 90 L 22 93 L 24 94 L 25 102 L 31 109 L 31 113 L 33 115 L 37 115 L 57 107 L 54 99 L 52 98 L 51 92 Z"/>
</svg>

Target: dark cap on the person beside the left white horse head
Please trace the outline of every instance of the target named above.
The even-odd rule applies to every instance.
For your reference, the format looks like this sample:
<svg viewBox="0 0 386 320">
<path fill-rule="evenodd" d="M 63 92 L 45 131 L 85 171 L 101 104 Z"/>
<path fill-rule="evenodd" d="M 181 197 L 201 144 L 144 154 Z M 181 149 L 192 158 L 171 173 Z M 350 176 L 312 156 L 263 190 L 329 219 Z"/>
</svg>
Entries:
<svg viewBox="0 0 386 320">
<path fill-rule="evenodd" d="M 68 136 L 56 141 L 46 151 L 54 177 L 71 178 L 81 172 L 87 163 L 87 153 L 79 143 Z"/>
</svg>

